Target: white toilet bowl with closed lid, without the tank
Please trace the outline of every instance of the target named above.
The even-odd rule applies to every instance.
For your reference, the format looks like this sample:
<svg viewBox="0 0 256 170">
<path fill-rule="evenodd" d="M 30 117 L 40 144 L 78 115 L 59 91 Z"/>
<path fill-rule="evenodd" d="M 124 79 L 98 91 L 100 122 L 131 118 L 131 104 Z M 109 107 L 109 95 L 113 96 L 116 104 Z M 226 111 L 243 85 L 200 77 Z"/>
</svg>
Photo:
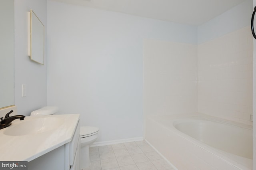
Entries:
<svg viewBox="0 0 256 170">
<path fill-rule="evenodd" d="M 98 127 L 80 127 L 80 169 L 90 166 L 89 147 L 98 138 Z"/>
</svg>

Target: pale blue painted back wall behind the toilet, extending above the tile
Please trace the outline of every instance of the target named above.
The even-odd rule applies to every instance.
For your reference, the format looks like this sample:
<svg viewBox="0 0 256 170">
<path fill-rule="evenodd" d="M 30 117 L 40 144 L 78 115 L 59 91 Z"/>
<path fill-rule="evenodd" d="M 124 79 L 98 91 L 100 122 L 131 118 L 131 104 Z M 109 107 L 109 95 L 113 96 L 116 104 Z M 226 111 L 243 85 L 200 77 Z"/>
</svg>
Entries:
<svg viewBox="0 0 256 170">
<path fill-rule="evenodd" d="M 196 43 L 197 28 L 48 1 L 48 105 L 98 141 L 141 137 L 143 39 Z"/>
</svg>

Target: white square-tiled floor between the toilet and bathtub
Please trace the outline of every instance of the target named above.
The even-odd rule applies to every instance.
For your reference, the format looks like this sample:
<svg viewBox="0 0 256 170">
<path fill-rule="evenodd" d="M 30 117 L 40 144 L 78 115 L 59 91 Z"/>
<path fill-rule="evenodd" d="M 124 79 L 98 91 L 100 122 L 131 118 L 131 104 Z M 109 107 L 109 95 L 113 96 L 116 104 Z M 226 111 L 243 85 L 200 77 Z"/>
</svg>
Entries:
<svg viewBox="0 0 256 170">
<path fill-rule="evenodd" d="M 90 147 L 90 159 L 83 170 L 174 170 L 145 141 Z"/>
</svg>

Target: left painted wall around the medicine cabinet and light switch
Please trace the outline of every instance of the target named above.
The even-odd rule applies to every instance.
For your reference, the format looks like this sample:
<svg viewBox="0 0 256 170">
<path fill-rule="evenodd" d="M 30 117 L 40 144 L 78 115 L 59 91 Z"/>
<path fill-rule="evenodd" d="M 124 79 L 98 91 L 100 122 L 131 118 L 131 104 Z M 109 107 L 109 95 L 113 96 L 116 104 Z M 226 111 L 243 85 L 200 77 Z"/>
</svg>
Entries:
<svg viewBox="0 0 256 170">
<path fill-rule="evenodd" d="M 19 115 L 30 115 L 31 111 L 47 105 L 46 64 L 37 64 L 28 57 L 27 12 L 30 9 L 47 28 L 46 0 L 14 0 L 14 104 Z M 46 48 L 45 41 L 45 54 Z M 47 56 L 44 59 L 47 63 Z M 26 97 L 21 96 L 22 84 L 27 85 Z"/>
</svg>

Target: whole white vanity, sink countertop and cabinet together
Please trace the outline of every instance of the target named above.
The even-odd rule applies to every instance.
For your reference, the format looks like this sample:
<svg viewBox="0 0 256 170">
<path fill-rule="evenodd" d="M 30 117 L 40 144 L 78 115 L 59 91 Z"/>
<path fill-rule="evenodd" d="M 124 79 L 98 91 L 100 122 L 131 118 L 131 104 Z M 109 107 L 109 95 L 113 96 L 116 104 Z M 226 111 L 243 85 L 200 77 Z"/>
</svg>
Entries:
<svg viewBox="0 0 256 170">
<path fill-rule="evenodd" d="M 28 170 L 80 170 L 79 114 L 15 120 L 0 138 L 1 161 L 28 161 Z"/>
</svg>

